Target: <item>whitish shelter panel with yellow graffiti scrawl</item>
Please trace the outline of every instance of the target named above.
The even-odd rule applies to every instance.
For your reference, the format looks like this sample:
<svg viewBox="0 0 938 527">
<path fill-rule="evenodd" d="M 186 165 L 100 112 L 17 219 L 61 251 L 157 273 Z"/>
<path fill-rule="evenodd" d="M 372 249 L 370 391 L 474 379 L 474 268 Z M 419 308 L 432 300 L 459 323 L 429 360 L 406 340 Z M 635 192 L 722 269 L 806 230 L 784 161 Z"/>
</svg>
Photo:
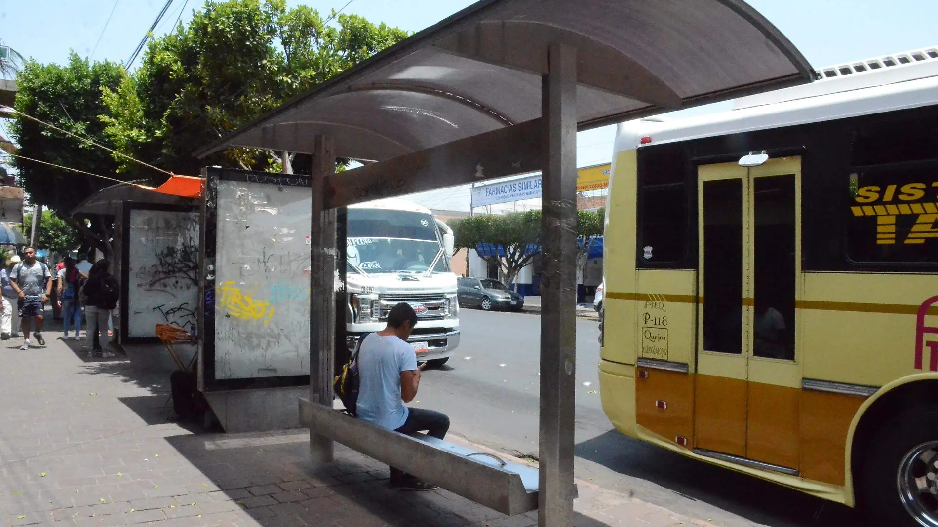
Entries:
<svg viewBox="0 0 938 527">
<path fill-rule="evenodd" d="M 312 192 L 290 183 L 265 174 L 219 181 L 216 379 L 310 372 Z"/>
</svg>

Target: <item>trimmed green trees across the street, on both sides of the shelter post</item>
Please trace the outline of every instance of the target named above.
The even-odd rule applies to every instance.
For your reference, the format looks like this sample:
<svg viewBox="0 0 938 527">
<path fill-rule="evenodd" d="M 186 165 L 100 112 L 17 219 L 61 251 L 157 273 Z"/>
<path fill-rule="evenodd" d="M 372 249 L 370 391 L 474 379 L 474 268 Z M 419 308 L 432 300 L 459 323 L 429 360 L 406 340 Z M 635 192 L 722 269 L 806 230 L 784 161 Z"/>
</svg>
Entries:
<svg viewBox="0 0 938 527">
<path fill-rule="evenodd" d="M 603 232 L 606 211 L 577 211 L 577 270 L 582 271 L 589 251 Z M 450 222 L 456 248 L 476 250 L 479 258 L 498 266 L 511 283 L 522 268 L 540 251 L 541 217 L 539 210 L 484 214 Z M 479 247 L 482 250 L 479 250 Z"/>
</svg>

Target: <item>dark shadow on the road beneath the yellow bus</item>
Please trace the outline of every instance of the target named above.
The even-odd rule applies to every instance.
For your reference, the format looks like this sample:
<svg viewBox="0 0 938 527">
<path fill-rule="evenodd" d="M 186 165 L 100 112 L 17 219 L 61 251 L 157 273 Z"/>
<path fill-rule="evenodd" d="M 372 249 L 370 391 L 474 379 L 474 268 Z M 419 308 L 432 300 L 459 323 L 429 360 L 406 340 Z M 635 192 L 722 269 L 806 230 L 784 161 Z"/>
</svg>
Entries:
<svg viewBox="0 0 938 527">
<path fill-rule="evenodd" d="M 576 456 L 619 474 L 650 481 L 677 494 L 719 507 L 745 519 L 771 525 L 872 527 L 862 513 L 768 481 L 689 459 L 606 432 L 576 445 Z"/>
</svg>

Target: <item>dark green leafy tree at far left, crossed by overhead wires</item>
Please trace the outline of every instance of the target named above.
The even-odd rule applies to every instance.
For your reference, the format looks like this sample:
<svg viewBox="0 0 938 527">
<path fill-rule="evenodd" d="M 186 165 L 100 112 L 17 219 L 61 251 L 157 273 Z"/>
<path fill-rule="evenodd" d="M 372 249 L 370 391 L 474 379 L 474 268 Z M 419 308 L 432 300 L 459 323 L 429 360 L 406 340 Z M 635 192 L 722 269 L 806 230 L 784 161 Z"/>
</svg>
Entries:
<svg viewBox="0 0 938 527">
<path fill-rule="evenodd" d="M 101 89 L 115 89 L 124 76 L 113 62 L 89 64 L 71 53 L 68 65 L 43 65 L 28 60 L 17 78 L 16 118 L 9 129 L 20 145 L 19 156 L 89 173 L 113 177 L 117 163 L 111 154 L 82 139 L 42 125 L 25 115 L 38 118 L 82 138 L 106 143 L 104 124 L 98 115 L 105 109 Z M 74 173 L 32 160 L 14 158 L 20 185 L 33 203 L 41 203 L 58 218 L 83 235 L 83 245 L 98 248 L 112 256 L 113 218 L 98 215 L 72 218 L 70 211 L 101 188 L 113 185 L 106 179 Z M 87 221 L 85 220 L 87 219 Z"/>
</svg>

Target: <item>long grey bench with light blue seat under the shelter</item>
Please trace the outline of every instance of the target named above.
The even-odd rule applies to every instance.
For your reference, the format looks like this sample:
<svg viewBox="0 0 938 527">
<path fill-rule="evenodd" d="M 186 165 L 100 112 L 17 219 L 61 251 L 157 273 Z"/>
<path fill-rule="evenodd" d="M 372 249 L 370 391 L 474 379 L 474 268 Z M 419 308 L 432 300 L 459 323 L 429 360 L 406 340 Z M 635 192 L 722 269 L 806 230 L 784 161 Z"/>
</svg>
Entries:
<svg viewBox="0 0 938 527">
<path fill-rule="evenodd" d="M 508 516 L 537 509 L 537 470 L 422 433 L 404 435 L 299 399 L 312 433 L 439 485 Z"/>
</svg>

